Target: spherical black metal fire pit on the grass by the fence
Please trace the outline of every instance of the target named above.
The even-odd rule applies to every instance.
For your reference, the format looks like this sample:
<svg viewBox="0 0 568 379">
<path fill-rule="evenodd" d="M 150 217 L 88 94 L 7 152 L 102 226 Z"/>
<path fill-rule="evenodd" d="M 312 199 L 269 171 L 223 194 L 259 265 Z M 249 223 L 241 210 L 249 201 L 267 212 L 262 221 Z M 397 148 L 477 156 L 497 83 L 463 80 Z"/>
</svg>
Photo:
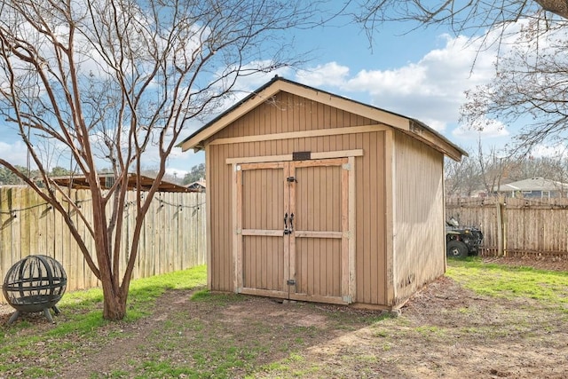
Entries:
<svg viewBox="0 0 568 379">
<path fill-rule="evenodd" d="M 43 312 L 53 322 L 50 308 L 59 314 L 55 304 L 59 302 L 67 287 L 67 274 L 63 266 L 51 257 L 36 255 L 25 257 L 4 277 L 4 297 L 16 310 L 8 324 L 12 324 L 21 313 Z"/>
</svg>

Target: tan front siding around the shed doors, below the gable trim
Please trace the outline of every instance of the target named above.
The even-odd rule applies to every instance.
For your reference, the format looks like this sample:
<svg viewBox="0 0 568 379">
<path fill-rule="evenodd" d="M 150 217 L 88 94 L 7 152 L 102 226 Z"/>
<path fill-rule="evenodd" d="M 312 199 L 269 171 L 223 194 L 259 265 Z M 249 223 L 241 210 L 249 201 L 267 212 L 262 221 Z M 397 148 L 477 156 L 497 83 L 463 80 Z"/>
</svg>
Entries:
<svg viewBox="0 0 568 379">
<path fill-rule="evenodd" d="M 220 148 L 225 146 L 225 149 Z M 272 141 L 248 142 L 233 145 L 210 146 L 212 155 L 216 155 L 215 165 L 222 164 L 220 170 L 211 167 L 213 180 L 211 190 L 211 252 L 212 252 L 212 289 L 233 290 L 229 280 L 233 229 L 229 225 L 230 215 L 227 209 L 234 210 L 231 199 L 231 165 L 226 158 L 262 155 L 291 154 L 294 151 L 326 152 L 362 148 L 364 154 L 357 157 L 356 169 L 356 275 L 357 286 L 355 301 L 364 304 L 386 304 L 386 261 L 385 261 L 385 204 L 384 191 L 384 133 L 370 132 L 358 135 L 326 136 L 318 138 L 293 138 L 279 141 L 273 146 Z M 221 154 L 222 157 L 217 156 Z M 339 185 L 339 183 L 338 183 Z M 225 189 L 217 188 L 224 186 Z M 229 208 L 224 208 L 229 207 Z M 231 231 L 230 233 L 227 231 Z M 225 273 L 224 273 L 225 272 Z M 232 274 L 232 272 L 231 272 Z M 226 277 L 225 277 L 226 276 Z M 232 278 L 232 276 L 231 276 Z M 225 287 L 229 286 L 229 288 Z"/>
</svg>

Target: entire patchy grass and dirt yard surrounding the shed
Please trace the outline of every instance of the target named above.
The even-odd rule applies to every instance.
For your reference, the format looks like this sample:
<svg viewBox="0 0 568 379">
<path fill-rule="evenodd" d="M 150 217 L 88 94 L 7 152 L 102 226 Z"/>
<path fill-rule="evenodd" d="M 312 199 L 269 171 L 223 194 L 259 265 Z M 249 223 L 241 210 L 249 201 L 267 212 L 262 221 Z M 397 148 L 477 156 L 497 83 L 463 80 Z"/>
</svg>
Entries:
<svg viewBox="0 0 568 379">
<path fill-rule="evenodd" d="M 67 294 L 56 325 L 39 315 L 2 327 L 0 377 L 524 379 L 561 377 L 568 353 L 566 272 L 450 260 L 398 318 L 205 282 L 205 267 L 136 280 L 114 323 L 99 289 Z"/>
</svg>

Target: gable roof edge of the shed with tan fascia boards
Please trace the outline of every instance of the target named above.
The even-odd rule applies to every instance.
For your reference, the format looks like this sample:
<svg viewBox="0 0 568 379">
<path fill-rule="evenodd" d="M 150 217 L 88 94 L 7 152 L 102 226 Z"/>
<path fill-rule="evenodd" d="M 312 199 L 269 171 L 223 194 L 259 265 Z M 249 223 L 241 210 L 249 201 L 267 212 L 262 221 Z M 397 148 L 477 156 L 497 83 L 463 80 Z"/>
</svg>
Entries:
<svg viewBox="0 0 568 379">
<path fill-rule="evenodd" d="M 185 138 L 178 146 L 181 146 L 183 151 L 191 148 L 196 151 L 201 150 L 204 147 L 204 141 L 206 139 L 213 136 L 219 130 L 223 130 L 242 115 L 247 114 L 253 108 L 264 103 L 264 101 L 271 99 L 280 91 L 317 101 L 330 107 L 351 112 L 352 114 L 359 114 L 371 120 L 389 125 L 394 129 L 400 130 L 420 140 L 422 143 L 431 146 L 455 161 L 461 161 L 462 156 L 468 155 L 459 146 L 454 145 L 454 143 L 423 122 L 378 107 L 369 106 L 356 100 L 343 98 L 342 96 L 327 91 L 320 91 L 279 76 L 275 76 L 270 82 L 264 84 L 264 86 L 248 95 L 245 99 L 242 99 L 223 114 L 219 114 L 200 130 L 195 131 L 191 136 Z"/>
</svg>

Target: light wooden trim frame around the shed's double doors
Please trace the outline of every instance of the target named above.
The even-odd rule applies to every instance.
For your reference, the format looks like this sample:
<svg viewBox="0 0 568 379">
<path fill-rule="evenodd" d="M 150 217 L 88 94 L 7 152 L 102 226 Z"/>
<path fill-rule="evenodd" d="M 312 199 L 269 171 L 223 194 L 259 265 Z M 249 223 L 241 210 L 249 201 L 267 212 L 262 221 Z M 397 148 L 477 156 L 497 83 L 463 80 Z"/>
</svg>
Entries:
<svg viewBox="0 0 568 379">
<path fill-rule="evenodd" d="M 288 296 L 280 291 L 270 291 L 263 289 L 253 289 L 248 288 L 247 293 L 252 293 L 253 295 L 259 296 L 272 296 L 279 298 L 292 298 L 297 300 L 323 302 L 323 303 L 335 303 L 335 304 L 351 304 L 356 301 L 356 270 L 355 270 L 355 250 L 356 250 L 356 199 L 355 199 L 355 158 L 363 155 L 362 149 L 356 150 L 345 150 L 345 151 L 335 151 L 335 152 L 324 152 L 324 153 L 312 153 L 311 160 L 323 160 L 323 159 L 333 159 L 333 158 L 346 158 L 346 162 L 342 165 L 342 193 L 345 191 L 347 200 L 342 201 L 342 250 L 346 249 L 347 253 L 342 254 L 342 294 L 341 297 L 331 297 L 331 296 L 290 296 L 288 291 Z M 247 163 L 256 163 L 257 167 L 273 168 L 280 166 L 282 164 L 284 168 L 285 178 L 289 176 L 289 170 L 287 167 L 289 165 L 284 165 L 283 162 L 296 161 L 294 159 L 295 154 L 286 155 L 269 155 L 269 156 L 259 156 L 259 157 L 241 157 L 241 158 L 228 158 L 226 160 L 227 164 L 233 166 L 233 188 L 232 188 L 232 225 L 233 225 L 233 290 L 236 293 L 241 293 L 243 291 L 243 277 L 242 277 L 242 182 L 241 175 L 241 165 Z M 296 161 L 296 162 L 308 162 L 304 163 L 310 165 L 311 160 Z M 315 163 L 315 162 L 314 162 Z M 302 164 L 302 163 L 298 163 Z M 280 167 L 282 167 L 280 166 Z M 285 196 L 286 198 L 286 196 Z M 289 200 L 284 200 L 289 201 Z M 285 206 L 289 206 L 289 202 L 285 202 Z M 344 211 L 346 208 L 346 211 Z M 346 227 L 345 227 L 346 226 Z M 245 231 L 246 233 L 246 231 Z M 344 257 L 344 258 L 343 258 Z M 290 244 L 285 243 L 284 247 L 284 259 L 289 262 L 290 258 Z M 289 267 L 294 267 L 293 265 L 285 265 L 285 278 L 290 277 Z M 346 270 L 346 272 L 343 272 Z"/>
</svg>

